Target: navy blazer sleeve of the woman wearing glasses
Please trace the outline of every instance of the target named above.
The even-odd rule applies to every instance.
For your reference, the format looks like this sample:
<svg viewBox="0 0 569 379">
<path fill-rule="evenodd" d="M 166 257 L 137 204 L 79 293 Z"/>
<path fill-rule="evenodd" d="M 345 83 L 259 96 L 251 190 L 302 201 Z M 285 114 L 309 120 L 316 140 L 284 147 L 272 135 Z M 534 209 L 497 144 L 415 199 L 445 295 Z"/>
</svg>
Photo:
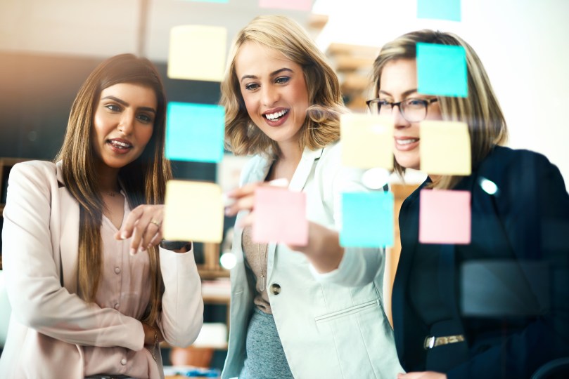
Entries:
<svg viewBox="0 0 569 379">
<path fill-rule="evenodd" d="M 495 179 L 502 183 L 496 205 L 516 259 L 549 267 L 549 310 L 449 371 L 449 379 L 529 378 L 539 366 L 569 355 L 569 195 L 545 157 L 526 152 L 516 158 Z"/>
</svg>

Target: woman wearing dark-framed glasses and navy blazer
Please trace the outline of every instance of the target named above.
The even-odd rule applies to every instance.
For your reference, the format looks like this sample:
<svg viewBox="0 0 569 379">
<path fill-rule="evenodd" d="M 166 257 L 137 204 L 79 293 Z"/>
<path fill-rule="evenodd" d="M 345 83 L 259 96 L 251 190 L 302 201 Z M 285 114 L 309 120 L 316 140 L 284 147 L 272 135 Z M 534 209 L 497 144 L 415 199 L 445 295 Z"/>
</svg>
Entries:
<svg viewBox="0 0 569 379">
<path fill-rule="evenodd" d="M 466 50 L 467 98 L 418 93 L 419 42 Z M 399 213 L 399 378 L 529 378 L 568 355 L 569 197 L 544 156 L 501 146 L 506 122 L 475 51 L 454 34 L 411 32 L 383 46 L 373 79 L 368 105 L 395 119 L 398 173 L 420 168 L 423 120 L 463 121 L 471 138 L 471 175 L 429 175 Z M 418 241 L 423 189 L 470 192 L 469 244 Z"/>
</svg>

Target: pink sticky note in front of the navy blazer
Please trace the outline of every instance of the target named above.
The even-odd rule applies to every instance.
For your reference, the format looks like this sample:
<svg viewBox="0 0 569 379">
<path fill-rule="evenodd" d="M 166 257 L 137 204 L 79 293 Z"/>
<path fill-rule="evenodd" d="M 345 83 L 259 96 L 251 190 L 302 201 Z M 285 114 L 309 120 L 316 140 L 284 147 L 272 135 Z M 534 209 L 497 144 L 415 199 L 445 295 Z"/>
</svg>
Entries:
<svg viewBox="0 0 569 379">
<path fill-rule="evenodd" d="M 422 189 L 419 209 L 419 242 L 470 244 L 471 193 Z"/>
</svg>

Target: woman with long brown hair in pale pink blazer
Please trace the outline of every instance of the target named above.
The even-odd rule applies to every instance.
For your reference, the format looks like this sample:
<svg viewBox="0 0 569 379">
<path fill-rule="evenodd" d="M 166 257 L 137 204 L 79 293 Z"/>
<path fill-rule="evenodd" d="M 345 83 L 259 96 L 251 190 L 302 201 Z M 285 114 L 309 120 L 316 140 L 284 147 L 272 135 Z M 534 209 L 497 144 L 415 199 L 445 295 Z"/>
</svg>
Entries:
<svg viewBox="0 0 569 379">
<path fill-rule="evenodd" d="M 171 176 L 164 140 L 158 72 L 117 55 L 79 89 L 56 163 L 13 166 L 1 378 L 163 378 L 158 342 L 196 339 L 203 300 L 191 245 L 157 246 Z"/>
</svg>

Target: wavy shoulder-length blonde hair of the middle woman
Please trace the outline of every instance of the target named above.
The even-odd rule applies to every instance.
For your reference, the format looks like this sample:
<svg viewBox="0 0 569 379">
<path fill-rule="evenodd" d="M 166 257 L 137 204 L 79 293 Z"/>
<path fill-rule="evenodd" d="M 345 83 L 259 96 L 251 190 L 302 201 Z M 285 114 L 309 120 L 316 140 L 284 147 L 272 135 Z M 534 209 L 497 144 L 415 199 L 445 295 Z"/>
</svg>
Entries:
<svg viewBox="0 0 569 379">
<path fill-rule="evenodd" d="M 262 133 L 250 119 L 235 71 L 235 60 L 246 42 L 280 51 L 302 67 L 309 103 L 302 126 L 300 148 L 317 149 L 340 138 L 340 114 L 347 112 L 338 77 L 326 57 L 297 22 L 279 15 L 252 20 L 234 39 L 222 81 L 220 104 L 225 107 L 226 147 L 237 155 L 263 154 L 270 148 L 279 154 L 276 142 Z"/>
</svg>

